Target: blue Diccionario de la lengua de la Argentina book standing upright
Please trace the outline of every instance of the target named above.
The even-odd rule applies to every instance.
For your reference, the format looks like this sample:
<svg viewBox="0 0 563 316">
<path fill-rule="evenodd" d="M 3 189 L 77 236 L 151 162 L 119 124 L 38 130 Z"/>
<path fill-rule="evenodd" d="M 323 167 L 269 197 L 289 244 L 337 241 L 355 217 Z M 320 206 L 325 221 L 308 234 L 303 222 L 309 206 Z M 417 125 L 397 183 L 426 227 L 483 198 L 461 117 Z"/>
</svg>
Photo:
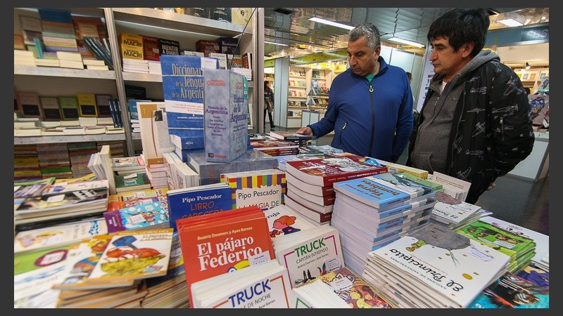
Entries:
<svg viewBox="0 0 563 316">
<path fill-rule="evenodd" d="M 200 129 L 203 136 L 203 74 L 217 69 L 214 58 L 160 55 L 168 128 Z"/>
</svg>

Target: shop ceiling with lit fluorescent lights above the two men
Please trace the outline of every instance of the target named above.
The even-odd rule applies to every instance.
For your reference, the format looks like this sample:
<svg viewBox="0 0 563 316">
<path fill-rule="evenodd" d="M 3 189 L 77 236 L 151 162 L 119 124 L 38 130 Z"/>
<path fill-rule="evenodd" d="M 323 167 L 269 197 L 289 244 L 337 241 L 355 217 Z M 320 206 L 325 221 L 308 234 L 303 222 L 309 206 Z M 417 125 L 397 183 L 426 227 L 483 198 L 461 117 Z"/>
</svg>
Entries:
<svg viewBox="0 0 563 316">
<path fill-rule="evenodd" d="M 424 55 L 425 48 L 394 44 L 387 39 L 399 37 L 426 44 L 426 34 L 431 23 L 450 8 L 265 8 L 264 39 L 279 46 L 265 44 L 266 59 L 298 56 L 320 51 L 346 48 L 348 29 L 312 22 L 317 17 L 346 25 L 372 22 L 379 28 L 381 42 L 386 46 L 401 48 Z M 491 19 L 489 29 L 506 27 L 498 20 L 514 18 L 524 25 L 549 22 L 549 8 L 488 8 Z M 542 19 L 542 17 L 545 17 Z"/>
</svg>

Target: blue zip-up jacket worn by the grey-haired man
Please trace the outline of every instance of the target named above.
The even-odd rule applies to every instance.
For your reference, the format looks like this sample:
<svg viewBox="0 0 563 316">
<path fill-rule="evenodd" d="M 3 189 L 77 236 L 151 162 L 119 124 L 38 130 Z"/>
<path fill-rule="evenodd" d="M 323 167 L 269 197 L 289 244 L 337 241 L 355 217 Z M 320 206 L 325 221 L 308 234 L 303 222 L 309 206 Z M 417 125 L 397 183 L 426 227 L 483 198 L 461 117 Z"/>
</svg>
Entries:
<svg viewBox="0 0 563 316">
<path fill-rule="evenodd" d="M 405 70 L 378 61 L 372 92 L 365 77 L 346 70 L 332 81 L 324 117 L 309 127 L 317 138 L 334 130 L 332 147 L 396 162 L 412 132 L 412 91 Z"/>
</svg>

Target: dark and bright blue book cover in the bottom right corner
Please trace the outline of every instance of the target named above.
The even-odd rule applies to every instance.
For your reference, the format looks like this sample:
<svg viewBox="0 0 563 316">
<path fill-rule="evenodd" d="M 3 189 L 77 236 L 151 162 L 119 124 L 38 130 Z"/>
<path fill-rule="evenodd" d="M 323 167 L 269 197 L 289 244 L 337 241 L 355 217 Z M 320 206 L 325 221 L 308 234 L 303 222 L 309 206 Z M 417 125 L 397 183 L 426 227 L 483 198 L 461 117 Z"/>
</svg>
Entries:
<svg viewBox="0 0 563 316">
<path fill-rule="evenodd" d="M 550 308 L 550 290 L 506 272 L 484 289 L 468 308 Z"/>
</svg>

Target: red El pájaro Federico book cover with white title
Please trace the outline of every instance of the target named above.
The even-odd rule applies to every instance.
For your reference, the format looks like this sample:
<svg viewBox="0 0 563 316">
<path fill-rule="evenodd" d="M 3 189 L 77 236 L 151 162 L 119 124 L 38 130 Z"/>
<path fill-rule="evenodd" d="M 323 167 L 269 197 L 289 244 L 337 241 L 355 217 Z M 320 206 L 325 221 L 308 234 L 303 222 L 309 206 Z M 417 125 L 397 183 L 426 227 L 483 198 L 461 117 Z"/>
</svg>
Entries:
<svg viewBox="0 0 563 316">
<path fill-rule="evenodd" d="M 191 284 L 275 258 L 270 230 L 258 206 L 176 221 L 188 291 Z M 190 292 L 190 299 L 191 292 Z"/>
</svg>

